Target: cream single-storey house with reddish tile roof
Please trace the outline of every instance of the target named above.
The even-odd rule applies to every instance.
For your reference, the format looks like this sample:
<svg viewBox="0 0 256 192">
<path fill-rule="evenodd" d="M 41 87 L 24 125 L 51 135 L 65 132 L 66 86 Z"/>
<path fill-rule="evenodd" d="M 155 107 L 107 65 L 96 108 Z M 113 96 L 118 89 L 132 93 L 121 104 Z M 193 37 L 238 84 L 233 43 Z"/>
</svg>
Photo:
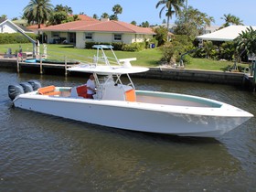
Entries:
<svg viewBox="0 0 256 192">
<path fill-rule="evenodd" d="M 152 28 L 137 27 L 122 21 L 97 20 L 90 16 L 86 19 L 73 21 L 40 29 L 47 36 L 48 43 L 61 43 L 65 40 L 76 48 L 85 48 L 86 42 L 143 42 L 155 35 Z"/>
</svg>

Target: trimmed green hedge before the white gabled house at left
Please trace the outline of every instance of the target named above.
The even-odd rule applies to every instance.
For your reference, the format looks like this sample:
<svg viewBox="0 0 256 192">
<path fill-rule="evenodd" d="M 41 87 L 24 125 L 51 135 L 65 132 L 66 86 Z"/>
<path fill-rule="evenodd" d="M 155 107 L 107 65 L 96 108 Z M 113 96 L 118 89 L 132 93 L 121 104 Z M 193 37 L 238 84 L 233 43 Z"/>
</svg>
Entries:
<svg viewBox="0 0 256 192">
<path fill-rule="evenodd" d="M 27 34 L 27 36 L 36 39 L 37 35 Z M 1 33 L 0 34 L 0 44 L 16 44 L 16 43 L 29 43 L 27 37 L 21 35 L 20 33 Z"/>
</svg>

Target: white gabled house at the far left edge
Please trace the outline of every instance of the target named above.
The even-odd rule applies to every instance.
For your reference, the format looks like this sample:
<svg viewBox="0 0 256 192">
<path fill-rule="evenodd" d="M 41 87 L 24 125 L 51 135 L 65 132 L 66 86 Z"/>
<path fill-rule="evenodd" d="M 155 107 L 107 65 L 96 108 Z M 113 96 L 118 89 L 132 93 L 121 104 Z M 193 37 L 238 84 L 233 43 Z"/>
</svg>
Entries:
<svg viewBox="0 0 256 192">
<path fill-rule="evenodd" d="M 19 31 L 32 33 L 32 31 L 29 31 L 26 27 L 16 25 L 9 19 L 0 18 L 0 33 L 18 33 Z"/>
</svg>

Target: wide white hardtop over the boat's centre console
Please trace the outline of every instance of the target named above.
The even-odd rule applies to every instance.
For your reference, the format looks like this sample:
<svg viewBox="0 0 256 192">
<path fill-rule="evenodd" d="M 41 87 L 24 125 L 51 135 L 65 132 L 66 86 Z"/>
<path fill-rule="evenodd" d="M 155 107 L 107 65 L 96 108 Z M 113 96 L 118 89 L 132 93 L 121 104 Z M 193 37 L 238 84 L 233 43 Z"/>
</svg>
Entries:
<svg viewBox="0 0 256 192">
<path fill-rule="evenodd" d="M 68 69 L 69 71 L 78 71 L 78 72 L 88 72 L 88 73 L 97 73 L 101 75 L 110 75 L 110 74 L 130 74 L 130 73 L 140 73 L 149 70 L 144 67 L 131 67 L 126 68 L 124 66 L 93 66 L 89 64 L 80 64 Z"/>
</svg>

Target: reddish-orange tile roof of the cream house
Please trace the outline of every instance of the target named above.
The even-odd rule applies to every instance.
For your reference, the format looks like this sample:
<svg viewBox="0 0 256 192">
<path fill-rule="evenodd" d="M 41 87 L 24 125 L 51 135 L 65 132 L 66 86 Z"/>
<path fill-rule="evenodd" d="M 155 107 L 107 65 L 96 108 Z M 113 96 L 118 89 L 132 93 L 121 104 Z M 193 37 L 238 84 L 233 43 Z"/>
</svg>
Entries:
<svg viewBox="0 0 256 192">
<path fill-rule="evenodd" d="M 60 24 L 56 26 L 45 27 L 42 31 L 97 31 L 97 32 L 119 32 L 119 33 L 137 33 L 137 34 L 155 34 L 152 28 L 137 27 L 122 21 L 99 21 L 99 20 L 80 20 Z"/>
</svg>

